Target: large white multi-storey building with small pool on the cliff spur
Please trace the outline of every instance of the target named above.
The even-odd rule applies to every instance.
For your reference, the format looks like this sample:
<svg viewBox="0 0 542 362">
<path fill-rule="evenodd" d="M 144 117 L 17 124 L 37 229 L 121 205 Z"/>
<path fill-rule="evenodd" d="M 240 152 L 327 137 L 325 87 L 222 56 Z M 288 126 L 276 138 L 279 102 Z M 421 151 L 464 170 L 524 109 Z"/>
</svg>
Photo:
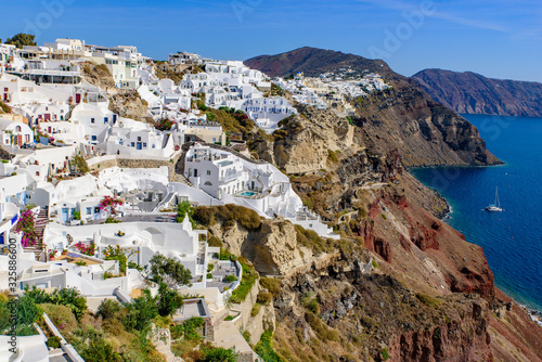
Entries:
<svg viewBox="0 0 542 362">
<path fill-rule="evenodd" d="M 186 153 L 184 176 L 195 189 L 211 197 L 206 204 L 248 207 L 260 216 L 280 216 L 312 229 L 320 236 L 339 238 L 321 222 L 320 217 L 302 206 L 288 177 L 271 164 L 255 163 L 227 151 L 196 144 Z M 190 198 L 191 192 L 185 195 Z M 201 195 L 197 197 L 199 201 L 205 199 Z"/>
</svg>

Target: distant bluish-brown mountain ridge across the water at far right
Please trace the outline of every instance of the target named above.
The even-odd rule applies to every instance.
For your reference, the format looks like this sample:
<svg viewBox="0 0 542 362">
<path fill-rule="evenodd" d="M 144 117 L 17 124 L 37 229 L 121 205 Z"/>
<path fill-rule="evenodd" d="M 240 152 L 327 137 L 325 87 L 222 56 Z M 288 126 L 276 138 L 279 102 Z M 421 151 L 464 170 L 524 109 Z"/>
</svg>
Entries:
<svg viewBox="0 0 542 362">
<path fill-rule="evenodd" d="M 486 78 L 479 74 L 425 69 L 415 74 L 437 102 L 467 114 L 542 117 L 542 83 Z"/>
</svg>

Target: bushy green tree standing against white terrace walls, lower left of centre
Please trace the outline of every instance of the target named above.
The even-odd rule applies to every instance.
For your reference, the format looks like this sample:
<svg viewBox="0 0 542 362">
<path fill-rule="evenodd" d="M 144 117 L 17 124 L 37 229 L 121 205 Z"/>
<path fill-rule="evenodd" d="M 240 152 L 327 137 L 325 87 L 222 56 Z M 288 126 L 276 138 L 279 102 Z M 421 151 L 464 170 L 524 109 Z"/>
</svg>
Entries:
<svg viewBox="0 0 542 362">
<path fill-rule="evenodd" d="M 168 287 L 190 284 L 192 273 L 184 266 L 172 258 L 157 253 L 151 260 L 151 273 L 156 283 L 166 283 Z"/>
</svg>

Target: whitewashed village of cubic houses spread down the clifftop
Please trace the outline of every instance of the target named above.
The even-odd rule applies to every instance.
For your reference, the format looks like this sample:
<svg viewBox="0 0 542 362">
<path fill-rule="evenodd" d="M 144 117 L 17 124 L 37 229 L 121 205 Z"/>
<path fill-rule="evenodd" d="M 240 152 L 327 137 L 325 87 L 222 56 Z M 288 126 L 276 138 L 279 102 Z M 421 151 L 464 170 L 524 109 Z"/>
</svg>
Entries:
<svg viewBox="0 0 542 362">
<path fill-rule="evenodd" d="M 276 86 L 289 91 L 295 102 L 344 115 L 353 112 L 346 96 L 388 87 L 378 75 L 352 78 L 348 69 L 319 78 L 299 74 L 271 80 L 242 62 L 186 52 L 155 64 L 136 47 L 91 46 L 76 39 L 23 49 L 0 44 L 0 101 L 10 111 L 0 114 L 0 289 L 9 288 L 8 249 L 13 243 L 18 293 L 27 286 L 76 287 L 91 310 L 104 299 L 128 302 L 143 288 L 153 292 L 145 269 L 159 253 L 190 270 L 191 286 L 181 293 L 205 296 L 196 301 L 202 308 L 183 308 L 178 319 L 186 313 L 209 320 L 222 315 L 242 280 L 238 262 L 219 260 L 220 248 L 208 246 L 206 231 L 194 230 L 189 218 L 176 221 L 179 204 L 234 204 L 338 238 L 304 207 L 287 176 L 251 159 L 245 141 L 227 134 L 197 103 L 242 111 L 271 133 L 296 114 L 285 96 L 271 95 Z M 147 104 L 149 121 L 109 111 L 106 91 L 112 90 L 86 80 L 89 64 L 105 66 L 116 89 L 136 90 Z M 159 79 L 157 69 L 191 72 L 175 82 Z M 166 119 L 170 129 L 154 126 Z M 33 220 L 35 238 L 17 231 L 23 219 Z M 108 247 L 116 246 L 137 251 L 129 254 L 131 267 L 125 272 L 118 260 L 105 258 Z M 210 275 L 209 264 L 215 266 Z M 236 281 L 227 282 L 227 275 Z M 21 340 L 22 361 L 50 360 L 42 336 Z M 240 334 L 237 350 L 253 355 L 243 342 Z M 69 346 L 63 353 L 81 360 Z"/>
</svg>

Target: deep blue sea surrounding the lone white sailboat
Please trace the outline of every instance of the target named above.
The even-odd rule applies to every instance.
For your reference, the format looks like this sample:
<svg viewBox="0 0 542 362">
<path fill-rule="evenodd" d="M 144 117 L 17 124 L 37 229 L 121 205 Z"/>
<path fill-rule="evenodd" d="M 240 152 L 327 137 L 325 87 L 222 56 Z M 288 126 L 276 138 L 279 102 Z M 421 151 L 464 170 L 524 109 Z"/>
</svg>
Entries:
<svg viewBox="0 0 542 362">
<path fill-rule="evenodd" d="M 463 116 L 506 164 L 412 173 L 448 199 L 446 221 L 483 247 L 496 286 L 542 311 L 542 118 Z M 483 210 L 494 203 L 495 188 L 504 212 Z"/>
</svg>

